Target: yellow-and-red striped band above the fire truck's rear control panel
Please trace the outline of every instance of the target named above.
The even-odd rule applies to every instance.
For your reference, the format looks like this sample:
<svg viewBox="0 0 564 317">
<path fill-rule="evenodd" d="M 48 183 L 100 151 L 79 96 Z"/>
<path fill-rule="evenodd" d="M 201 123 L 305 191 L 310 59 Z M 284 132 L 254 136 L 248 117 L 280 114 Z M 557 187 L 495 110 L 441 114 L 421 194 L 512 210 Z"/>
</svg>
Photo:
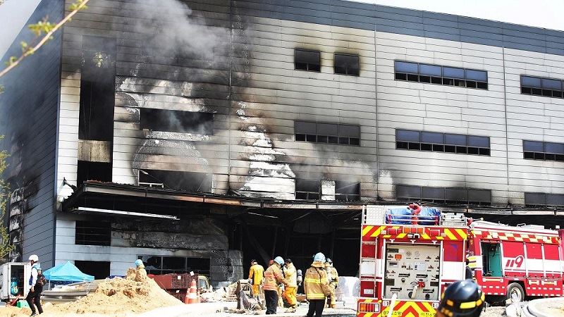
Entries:
<svg viewBox="0 0 564 317">
<path fill-rule="evenodd" d="M 374 241 L 376 237 L 384 239 L 405 239 L 410 235 L 410 230 L 419 234 L 422 240 L 467 240 L 467 230 L 463 228 L 439 228 L 416 225 L 363 225 L 362 240 Z M 393 231 L 393 234 L 390 232 Z M 438 234 L 437 234 L 438 233 Z"/>
</svg>

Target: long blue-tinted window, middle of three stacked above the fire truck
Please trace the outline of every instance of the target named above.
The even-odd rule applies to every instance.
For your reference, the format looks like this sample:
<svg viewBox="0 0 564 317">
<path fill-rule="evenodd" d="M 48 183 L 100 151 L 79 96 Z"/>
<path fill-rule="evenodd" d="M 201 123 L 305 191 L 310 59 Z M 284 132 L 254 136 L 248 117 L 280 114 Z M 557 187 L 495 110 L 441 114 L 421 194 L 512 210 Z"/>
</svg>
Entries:
<svg viewBox="0 0 564 317">
<path fill-rule="evenodd" d="M 489 137 L 396 129 L 396 149 L 490 155 Z"/>
</svg>

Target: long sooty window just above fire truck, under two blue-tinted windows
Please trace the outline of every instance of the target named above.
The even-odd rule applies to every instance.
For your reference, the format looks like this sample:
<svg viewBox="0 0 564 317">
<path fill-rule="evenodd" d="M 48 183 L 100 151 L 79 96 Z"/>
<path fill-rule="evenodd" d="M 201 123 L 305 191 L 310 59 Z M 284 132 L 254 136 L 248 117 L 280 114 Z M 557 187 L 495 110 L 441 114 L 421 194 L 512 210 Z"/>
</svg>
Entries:
<svg viewBox="0 0 564 317">
<path fill-rule="evenodd" d="M 396 199 L 443 204 L 490 205 L 491 191 L 489 189 L 396 185 Z"/>
</svg>

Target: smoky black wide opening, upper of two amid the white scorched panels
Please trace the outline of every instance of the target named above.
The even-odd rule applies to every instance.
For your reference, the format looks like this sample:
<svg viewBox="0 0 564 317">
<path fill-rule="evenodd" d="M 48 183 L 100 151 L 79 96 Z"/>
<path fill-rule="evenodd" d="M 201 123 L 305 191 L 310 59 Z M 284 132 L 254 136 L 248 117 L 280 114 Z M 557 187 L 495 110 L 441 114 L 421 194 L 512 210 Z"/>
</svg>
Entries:
<svg viewBox="0 0 564 317">
<path fill-rule="evenodd" d="M 140 128 L 164 132 L 214 134 L 214 115 L 207 112 L 140 109 Z"/>
</svg>

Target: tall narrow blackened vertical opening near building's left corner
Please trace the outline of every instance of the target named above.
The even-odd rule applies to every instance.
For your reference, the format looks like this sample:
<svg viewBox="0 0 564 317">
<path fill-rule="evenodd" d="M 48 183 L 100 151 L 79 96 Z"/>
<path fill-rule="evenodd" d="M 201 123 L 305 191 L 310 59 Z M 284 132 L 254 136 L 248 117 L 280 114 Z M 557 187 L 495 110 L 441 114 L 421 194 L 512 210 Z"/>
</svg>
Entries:
<svg viewBox="0 0 564 317">
<path fill-rule="evenodd" d="M 116 39 L 82 36 L 79 139 L 112 140 L 115 85 Z"/>
</svg>

